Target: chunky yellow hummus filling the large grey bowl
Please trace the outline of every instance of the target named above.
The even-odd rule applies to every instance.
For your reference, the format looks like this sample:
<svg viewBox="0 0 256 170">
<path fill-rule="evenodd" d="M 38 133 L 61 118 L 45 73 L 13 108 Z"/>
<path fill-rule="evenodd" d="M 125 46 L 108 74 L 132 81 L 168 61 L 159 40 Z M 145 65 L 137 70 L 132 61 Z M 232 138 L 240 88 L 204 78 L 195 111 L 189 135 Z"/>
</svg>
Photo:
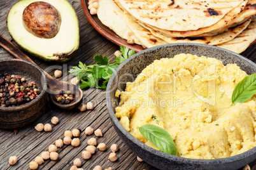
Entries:
<svg viewBox="0 0 256 170">
<path fill-rule="evenodd" d="M 256 146 L 256 95 L 231 107 L 232 91 L 246 76 L 236 64 L 180 54 L 148 65 L 127 82 L 115 108 L 135 138 L 156 148 L 139 132 L 154 124 L 173 138 L 178 156 L 218 159 Z M 157 148 L 156 148 L 157 149 Z"/>
</svg>

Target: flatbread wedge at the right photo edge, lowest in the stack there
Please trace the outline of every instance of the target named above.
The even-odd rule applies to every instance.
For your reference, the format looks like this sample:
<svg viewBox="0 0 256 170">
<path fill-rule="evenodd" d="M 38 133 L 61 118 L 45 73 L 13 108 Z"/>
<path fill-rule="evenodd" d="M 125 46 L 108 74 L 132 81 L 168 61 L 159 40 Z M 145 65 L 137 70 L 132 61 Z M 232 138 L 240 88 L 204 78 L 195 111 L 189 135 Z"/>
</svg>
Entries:
<svg viewBox="0 0 256 170">
<path fill-rule="evenodd" d="M 235 53 L 242 53 L 245 51 L 250 44 L 256 39 L 256 16 L 252 17 L 252 21 L 248 25 L 248 27 L 243 30 L 241 34 L 236 36 L 229 42 L 225 42 L 223 44 L 218 44 L 217 46 L 220 48 L 229 49 L 234 51 Z"/>
</svg>

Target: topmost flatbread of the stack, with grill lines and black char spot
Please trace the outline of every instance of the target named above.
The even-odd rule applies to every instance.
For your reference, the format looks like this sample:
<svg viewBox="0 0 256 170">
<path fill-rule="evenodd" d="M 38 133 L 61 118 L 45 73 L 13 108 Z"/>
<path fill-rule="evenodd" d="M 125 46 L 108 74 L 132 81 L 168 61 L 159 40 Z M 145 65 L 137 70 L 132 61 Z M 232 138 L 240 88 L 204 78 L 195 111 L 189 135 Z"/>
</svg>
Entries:
<svg viewBox="0 0 256 170">
<path fill-rule="evenodd" d="M 243 2 L 243 0 L 120 0 L 125 10 L 141 22 L 159 29 L 177 31 L 210 27 Z"/>
</svg>

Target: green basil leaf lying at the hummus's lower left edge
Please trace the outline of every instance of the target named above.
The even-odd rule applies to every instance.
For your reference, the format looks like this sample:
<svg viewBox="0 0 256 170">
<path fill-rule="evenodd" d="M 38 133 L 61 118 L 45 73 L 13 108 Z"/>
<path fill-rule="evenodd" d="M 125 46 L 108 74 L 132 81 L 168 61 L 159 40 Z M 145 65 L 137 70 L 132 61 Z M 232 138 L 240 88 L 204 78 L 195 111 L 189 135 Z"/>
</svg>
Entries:
<svg viewBox="0 0 256 170">
<path fill-rule="evenodd" d="M 145 124 L 139 128 L 140 133 L 159 148 L 162 152 L 171 155 L 178 155 L 176 145 L 171 135 L 166 130 L 153 124 Z"/>
</svg>

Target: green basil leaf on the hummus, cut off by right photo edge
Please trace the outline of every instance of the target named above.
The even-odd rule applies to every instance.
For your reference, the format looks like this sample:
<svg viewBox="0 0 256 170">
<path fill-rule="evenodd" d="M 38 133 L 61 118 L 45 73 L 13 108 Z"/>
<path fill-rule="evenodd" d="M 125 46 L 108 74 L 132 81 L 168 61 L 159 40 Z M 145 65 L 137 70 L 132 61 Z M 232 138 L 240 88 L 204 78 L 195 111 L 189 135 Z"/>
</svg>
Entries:
<svg viewBox="0 0 256 170">
<path fill-rule="evenodd" d="M 246 75 L 243 80 L 236 84 L 232 93 L 232 105 L 243 103 L 256 93 L 256 74 Z M 232 106 L 231 105 L 231 106 Z"/>
</svg>

